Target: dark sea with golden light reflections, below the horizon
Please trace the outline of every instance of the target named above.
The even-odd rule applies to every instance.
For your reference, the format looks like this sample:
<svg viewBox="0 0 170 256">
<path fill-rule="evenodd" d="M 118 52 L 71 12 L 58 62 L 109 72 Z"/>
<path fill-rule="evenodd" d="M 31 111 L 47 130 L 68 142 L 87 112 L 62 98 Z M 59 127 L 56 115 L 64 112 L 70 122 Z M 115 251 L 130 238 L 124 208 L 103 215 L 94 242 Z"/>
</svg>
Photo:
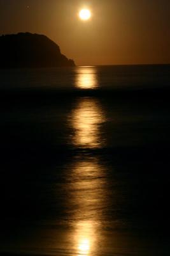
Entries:
<svg viewBox="0 0 170 256">
<path fill-rule="evenodd" d="M 0 76 L 0 254 L 169 256 L 170 66 Z"/>
</svg>

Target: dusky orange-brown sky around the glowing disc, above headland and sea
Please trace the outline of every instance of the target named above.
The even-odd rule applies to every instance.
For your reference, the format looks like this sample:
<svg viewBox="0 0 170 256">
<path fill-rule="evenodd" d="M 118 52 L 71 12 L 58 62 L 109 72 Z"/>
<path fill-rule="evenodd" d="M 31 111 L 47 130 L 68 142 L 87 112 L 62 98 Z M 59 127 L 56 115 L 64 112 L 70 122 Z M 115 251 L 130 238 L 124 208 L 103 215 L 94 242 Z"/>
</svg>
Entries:
<svg viewBox="0 0 170 256">
<path fill-rule="evenodd" d="M 77 65 L 170 63 L 170 0 L 0 0 L 0 34 L 21 31 L 50 37 Z"/>
</svg>

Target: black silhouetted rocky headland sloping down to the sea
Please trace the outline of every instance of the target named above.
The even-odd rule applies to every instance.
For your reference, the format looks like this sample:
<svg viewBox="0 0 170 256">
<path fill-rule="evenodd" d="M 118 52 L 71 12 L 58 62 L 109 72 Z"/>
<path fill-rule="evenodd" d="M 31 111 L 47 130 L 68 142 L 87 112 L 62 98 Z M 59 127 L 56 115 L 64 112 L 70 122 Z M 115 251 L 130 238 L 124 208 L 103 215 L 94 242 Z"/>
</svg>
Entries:
<svg viewBox="0 0 170 256">
<path fill-rule="evenodd" d="M 71 67 L 59 45 L 45 35 L 18 33 L 0 36 L 0 68 Z"/>
</svg>

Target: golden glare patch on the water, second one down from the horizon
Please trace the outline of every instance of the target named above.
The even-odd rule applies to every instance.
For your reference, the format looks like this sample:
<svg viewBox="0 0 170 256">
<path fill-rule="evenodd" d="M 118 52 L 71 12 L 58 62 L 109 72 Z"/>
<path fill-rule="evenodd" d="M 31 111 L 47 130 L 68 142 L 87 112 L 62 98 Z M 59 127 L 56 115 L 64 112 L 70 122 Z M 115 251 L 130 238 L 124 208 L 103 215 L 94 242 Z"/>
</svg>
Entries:
<svg viewBox="0 0 170 256">
<path fill-rule="evenodd" d="M 105 121 L 99 102 L 85 98 L 78 101 L 71 115 L 74 129 L 72 143 L 78 147 L 99 148 L 103 146 L 100 126 Z"/>
</svg>

